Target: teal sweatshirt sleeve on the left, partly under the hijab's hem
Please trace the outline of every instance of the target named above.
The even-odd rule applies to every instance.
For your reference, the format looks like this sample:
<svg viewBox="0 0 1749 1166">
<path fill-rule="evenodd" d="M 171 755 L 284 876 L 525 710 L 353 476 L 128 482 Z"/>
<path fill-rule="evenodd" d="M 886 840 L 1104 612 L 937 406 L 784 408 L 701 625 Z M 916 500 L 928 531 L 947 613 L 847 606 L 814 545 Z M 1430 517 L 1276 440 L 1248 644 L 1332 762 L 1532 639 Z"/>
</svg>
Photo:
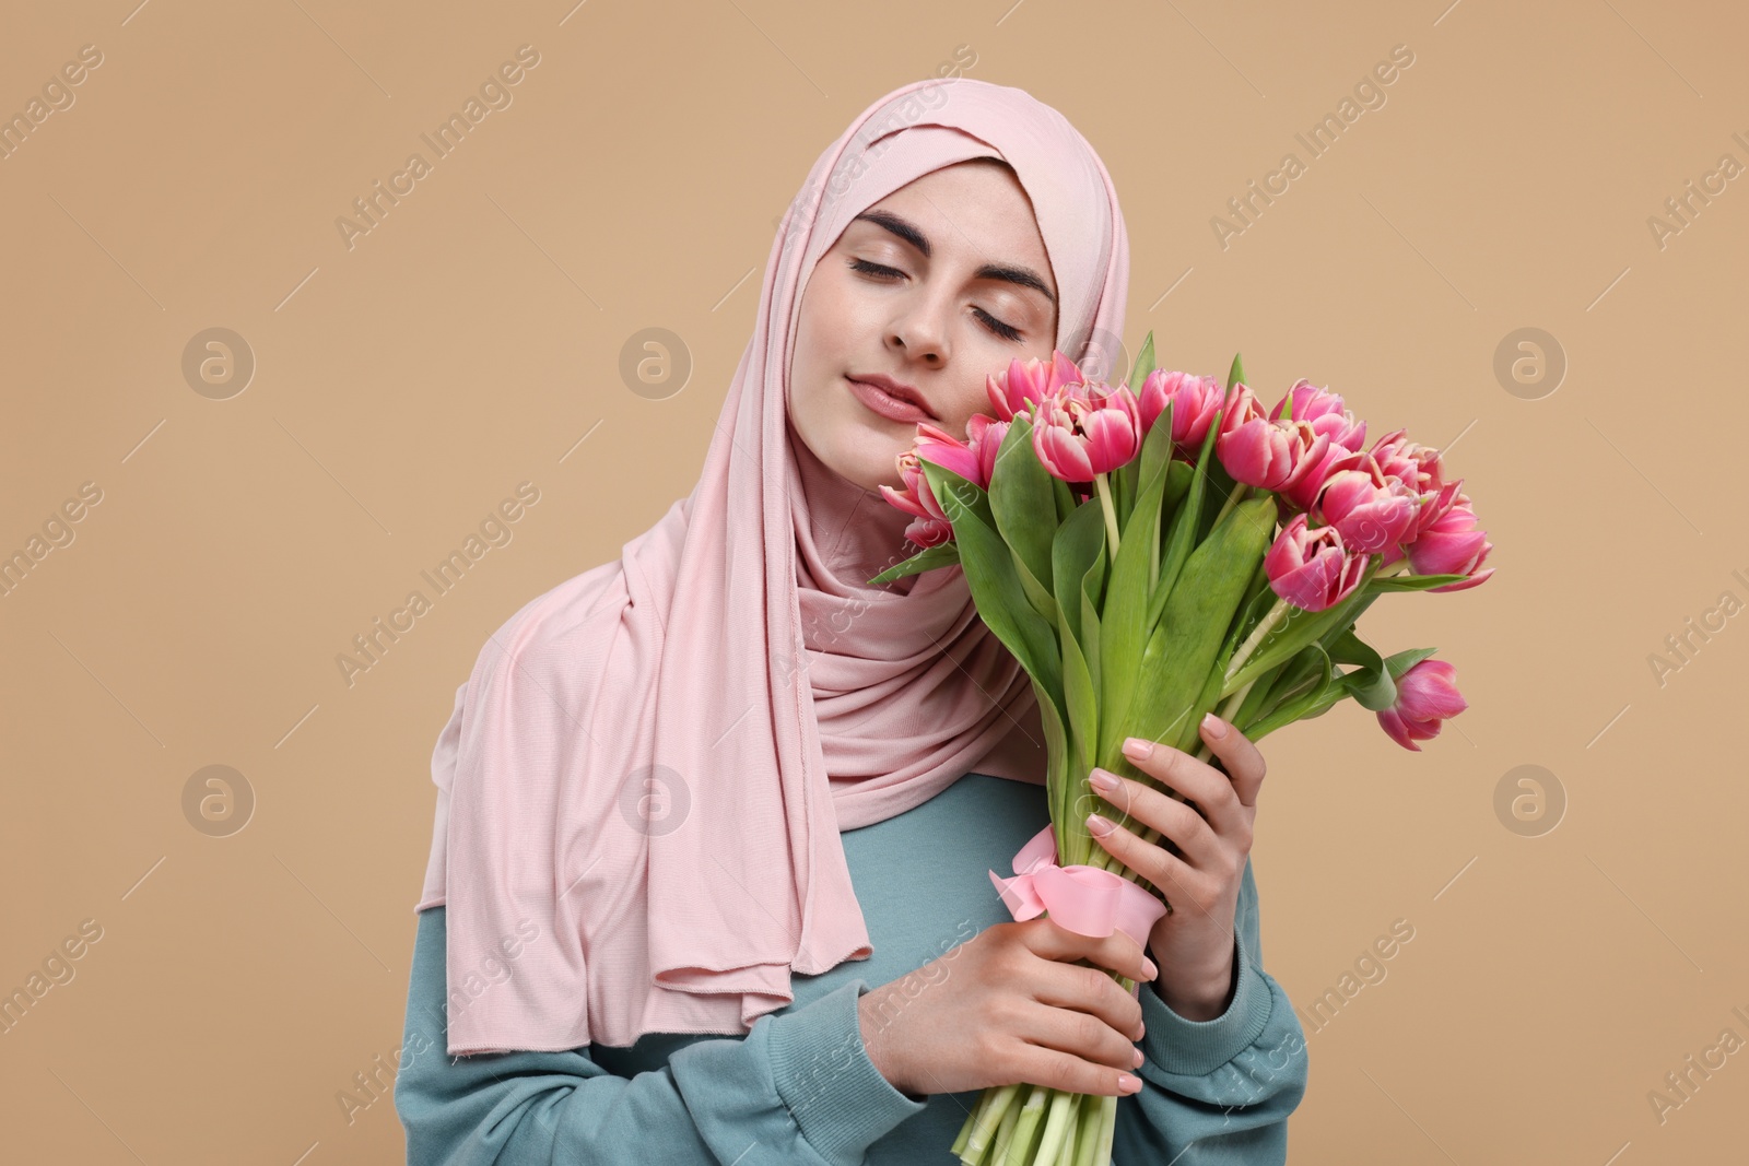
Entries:
<svg viewBox="0 0 1749 1166">
<path fill-rule="evenodd" d="M 444 909 L 420 913 L 395 1110 L 418 1166 L 855 1166 L 923 1112 L 862 1044 L 861 979 L 743 1037 L 707 1037 L 617 1077 L 565 1052 L 448 1056 Z"/>
</svg>

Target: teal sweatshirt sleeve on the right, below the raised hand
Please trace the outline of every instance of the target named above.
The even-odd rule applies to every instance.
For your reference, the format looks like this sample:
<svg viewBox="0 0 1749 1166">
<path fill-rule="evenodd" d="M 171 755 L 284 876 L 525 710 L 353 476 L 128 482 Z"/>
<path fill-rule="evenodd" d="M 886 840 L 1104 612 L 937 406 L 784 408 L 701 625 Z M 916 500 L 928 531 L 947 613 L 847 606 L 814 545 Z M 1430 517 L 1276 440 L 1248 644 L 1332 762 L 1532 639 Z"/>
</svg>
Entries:
<svg viewBox="0 0 1749 1166">
<path fill-rule="evenodd" d="M 1307 1091 L 1307 1044 L 1287 993 L 1263 970 L 1259 932 L 1258 883 L 1245 858 L 1233 925 L 1238 979 L 1226 1012 L 1189 1021 L 1142 986 L 1142 1089 L 1118 1107 L 1114 1166 L 1287 1161 L 1287 1115 Z M 1184 1156 L 1193 1147 L 1198 1152 Z"/>
</svg>

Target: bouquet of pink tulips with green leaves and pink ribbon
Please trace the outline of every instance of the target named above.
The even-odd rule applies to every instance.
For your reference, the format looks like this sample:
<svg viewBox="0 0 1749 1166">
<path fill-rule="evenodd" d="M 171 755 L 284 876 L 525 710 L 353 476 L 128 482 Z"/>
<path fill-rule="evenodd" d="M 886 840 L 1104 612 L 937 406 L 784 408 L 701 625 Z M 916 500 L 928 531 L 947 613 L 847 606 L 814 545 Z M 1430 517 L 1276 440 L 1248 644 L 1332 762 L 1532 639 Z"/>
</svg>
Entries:
<svg viewBox="0 0 1749 1166">
<path fill-rule="evenodd" d="M 1453 668 L 1429 659 L 1434 649 L 1380 656 L 1355 621 L 1390 591 L 1483 582 L 1492 544 L 1436 449 L 1404 430 L 1362 448 L 1366 423 L 1305 379 L 1265 414 L 1238 357 L 1223 390 L 1156 369 L 1149 334 L 1126 385 L 1090 381 L 1055 351 L 1014 360 L 986 388 L 995 414 L 972 416 L 965 441 L 922 423 L 899 456 L 904 489 L 881 491 L 913 516 L 906 538 L 922 549 L 869 582 L 957 563 L 1032 678 L 1051 825 L 1016 855 L 1014 879 L 992 872 L 1009 909 L 1049 911 L 1042 881 L 1020 885 L 1058 865 L 1055 885 L 1079 879 L 1083 897 L 1058 897 L 1053 918 L 1084 933 L 1123 927 L 1146 946 L 1172 907 L 1090 837 L 1076 808 L 1093 799 L 1091 769 L 1163 788 L 1123 755 L 1126 736 L 1200 746 L 1207 760 L 1195 734 L 1217 706 L 1256 741 L 1343 698 L 1418 750 L 1466 708 Z M 1102 881 L 1144 895 L 1153 914 L 1114 907 L 1095 930 L 1060 918 L 1077 902 L 1086 920 L 1079 904 Z M 1109 1166 L 1116 1101 L 990 1087 L 951 1149 L 965 1166 Z"/>
</svg>

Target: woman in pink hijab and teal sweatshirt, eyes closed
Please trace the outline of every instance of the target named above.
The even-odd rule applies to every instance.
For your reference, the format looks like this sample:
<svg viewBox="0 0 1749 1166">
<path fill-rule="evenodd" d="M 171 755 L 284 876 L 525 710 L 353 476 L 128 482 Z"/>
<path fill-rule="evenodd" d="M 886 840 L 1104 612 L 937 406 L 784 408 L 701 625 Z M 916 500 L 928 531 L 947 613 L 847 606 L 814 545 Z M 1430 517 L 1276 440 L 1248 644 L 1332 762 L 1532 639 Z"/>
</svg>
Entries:
<svg viewBox="0 0 1749 1166">
<path fill-rule="evenodd" d="M 909 84 L 820 156 L 698 486 L 456 691 L 411 1163 L 948 1161 L 1016 1080 L 1119 1096 L 1116 1163 L 1286 1161 L 1307 1059 L 1259 960 L 1258 750 L 1137 762 L 1200 815 L 1107 794 L 1182 855 L 1105 841 L 1174 899 L 1146 953 L 1014 923 L 988 871 L 1049 820 L 1032 685 L 960 572 L 866 584 L 913 549 L 878 486 L 916 421 L 964 434 L 988 371 L 1121 336 L 1126 285 L 1104 164 L 1020 89 Z"/>
</svg>

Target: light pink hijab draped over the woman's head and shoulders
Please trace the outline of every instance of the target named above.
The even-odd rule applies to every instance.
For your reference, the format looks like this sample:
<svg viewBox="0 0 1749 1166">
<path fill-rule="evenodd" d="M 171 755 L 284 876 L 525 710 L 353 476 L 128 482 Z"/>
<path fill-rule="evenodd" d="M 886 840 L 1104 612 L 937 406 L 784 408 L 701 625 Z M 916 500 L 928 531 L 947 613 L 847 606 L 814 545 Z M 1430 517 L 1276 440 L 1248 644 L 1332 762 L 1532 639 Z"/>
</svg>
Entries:
<svg viewBox="0 0 1749 1166">
<path fill-rule="evenodd" d="M 1130 250 L 1088 142 L 1021 89 L 923 80 L 868 107 L 771 245 L 754 336 L 693 493 L 621 558 L 512 615 L 432 752 L 451 1054 L 745 1033 L 791 975 L 873 953 L 840 830 L 967 771 L 1044 781 L 1032 682 L 958 568 L 792 437 L 808 274 L 845 226 L 943 166 L 1002 157 L 1058 288 L 1056 344 L 1123 334 Z M 1063 337 L 1069 337 L 1065 343 Z"/>
</svg>

